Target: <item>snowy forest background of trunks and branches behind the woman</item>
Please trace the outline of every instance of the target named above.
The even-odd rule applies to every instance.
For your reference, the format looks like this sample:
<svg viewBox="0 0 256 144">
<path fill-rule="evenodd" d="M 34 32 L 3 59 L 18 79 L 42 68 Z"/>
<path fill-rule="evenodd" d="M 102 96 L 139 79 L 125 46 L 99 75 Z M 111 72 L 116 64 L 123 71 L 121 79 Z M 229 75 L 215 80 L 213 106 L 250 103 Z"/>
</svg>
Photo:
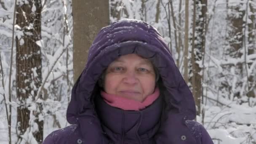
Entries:
<svg viewBox="0 0 256 144">
<path fill-rule="evenodd" d="M 0 0 L 0 144 L 69 125 L 88 48 L 125 18 L 163 36 L 214 144 L 256 144 L 256 0 Z"/>
</svg>

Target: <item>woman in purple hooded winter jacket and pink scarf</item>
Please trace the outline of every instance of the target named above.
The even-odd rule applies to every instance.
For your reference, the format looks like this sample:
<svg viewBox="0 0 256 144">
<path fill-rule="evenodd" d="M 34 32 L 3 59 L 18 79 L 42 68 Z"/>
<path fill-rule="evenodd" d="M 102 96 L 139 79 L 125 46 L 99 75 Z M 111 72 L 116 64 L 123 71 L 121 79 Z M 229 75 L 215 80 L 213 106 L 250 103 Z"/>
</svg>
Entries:
<svg viewBox="0 0 256 144">
<path fill-rule="evenodd" d="M 72 89 L 66 128 L 44 144 L 213 144 L 157 30 L 124 19 L 101 29 Z"/>
</svg>

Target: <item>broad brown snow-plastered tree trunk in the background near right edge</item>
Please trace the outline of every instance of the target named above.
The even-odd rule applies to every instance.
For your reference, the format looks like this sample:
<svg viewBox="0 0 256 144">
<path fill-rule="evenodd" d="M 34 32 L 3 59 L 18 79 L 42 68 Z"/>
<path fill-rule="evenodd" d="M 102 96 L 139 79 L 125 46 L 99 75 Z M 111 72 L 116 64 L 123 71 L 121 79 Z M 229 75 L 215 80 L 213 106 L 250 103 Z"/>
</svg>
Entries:
<svg viewBox="0 0 256 144">
<path fill-rule="evenodd" d="M 227 37 L 227 50 L 224 51 L 224 55 L 227 56 L 227 58 L 235 58 L 240 59 L 243 55 L 243 18 L 245 16 L 245 10 L 243 7 L 243 1 L 241 0 L 240 3 L 232 4 L 229 3 L 227 5 L 227 8 L 229 13 L 227 14 L 227 24 L 228 24 L 228 37 Z M 224 81 L 221 81 L 221 89 L 223 91 L 228 91 L 228 99 L 234 100 L 235 97 L 241 98 L 241 95 L 243 93 L 240 93 L 241 88 L 243 87 L 243 80 L 242 78 L 238 78 L 236 80 L 236 77 L 244 77 L 243 74 L 243 64 L 238 63 L 235 66 L 233 65 L 227 65 L 223 67 L 224 71 L 231 72 L 232 75 L 234 75 L 232 78 L 228 78 L 227 75 L 222 75 L 222 77 L 225 77 Z M 235 84 L 232 84 L 235 83 Z"/>
</svg>

